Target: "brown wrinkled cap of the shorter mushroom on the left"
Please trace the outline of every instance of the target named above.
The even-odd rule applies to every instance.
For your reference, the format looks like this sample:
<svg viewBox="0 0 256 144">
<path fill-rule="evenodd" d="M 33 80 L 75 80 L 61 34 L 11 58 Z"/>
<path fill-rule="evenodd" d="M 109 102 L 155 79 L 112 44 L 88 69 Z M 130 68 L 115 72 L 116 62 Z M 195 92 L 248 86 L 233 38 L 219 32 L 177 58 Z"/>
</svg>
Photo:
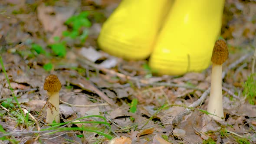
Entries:
<svg viewBox="0 0 256 144">
<path fill-rule="evenodd" d="M 45 78 L 43 89 L 47 92 L 59 92 L 61 88 L 61 83 L 57 75 L 49 75 Z"/>
</svg>

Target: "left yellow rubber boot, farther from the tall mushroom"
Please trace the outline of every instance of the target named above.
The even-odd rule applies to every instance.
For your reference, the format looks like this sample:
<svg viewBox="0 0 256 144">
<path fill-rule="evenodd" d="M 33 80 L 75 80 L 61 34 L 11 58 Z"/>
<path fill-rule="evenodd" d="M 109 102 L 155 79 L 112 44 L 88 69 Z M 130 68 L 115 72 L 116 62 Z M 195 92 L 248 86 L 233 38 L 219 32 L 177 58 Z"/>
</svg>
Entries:
<svg viewBox="0 0 256 144">
<path fill-rule="evenodd" d="M 99 47 L 125 59 L 145 59 L 173 0 L 122 0 L 103 24 Z"/>
</svg>

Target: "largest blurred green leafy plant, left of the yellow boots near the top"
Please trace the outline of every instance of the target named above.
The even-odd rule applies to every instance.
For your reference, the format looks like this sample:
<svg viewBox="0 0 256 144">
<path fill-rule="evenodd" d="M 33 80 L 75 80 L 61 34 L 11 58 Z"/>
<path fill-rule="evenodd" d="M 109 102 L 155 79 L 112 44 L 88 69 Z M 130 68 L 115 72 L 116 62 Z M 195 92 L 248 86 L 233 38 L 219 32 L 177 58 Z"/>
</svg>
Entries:
<svg viewBox="0 0 256 144">
<path fill-rule="evenodd" d="M 84 27 L 90 27 L 92 23 L 88 20 L 87 16 L 89 12 L 81 12 L 79 15 L 71 16 L 67 21 L 66 25 L 68 25 L 71 30 L 64 31 L 62 33 L 63 36 L 69 36 L 72 39 L 80 39 L 81 43 L 85 42 L 85 39 L 88 36 L 88 29 L 83 29 Z"/>
</svg>

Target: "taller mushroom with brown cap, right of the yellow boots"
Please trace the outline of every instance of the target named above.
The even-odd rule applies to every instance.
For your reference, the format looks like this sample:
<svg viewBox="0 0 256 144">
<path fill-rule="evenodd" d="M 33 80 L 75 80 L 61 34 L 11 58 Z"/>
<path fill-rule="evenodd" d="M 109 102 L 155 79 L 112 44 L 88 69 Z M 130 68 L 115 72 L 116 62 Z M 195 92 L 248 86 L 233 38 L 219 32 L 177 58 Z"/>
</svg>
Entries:
<svg viewBox="0 0 256 144">
<path fill-rule="evenodd" d="M 212 75 L 211 75 L 211 88 L 210 99 L 207 111 L 213 114 L 213 119 L 222 120 L 224 117 L 222 106 L 222 64 L 228 58 L 229 52 L 225 40 L 219 39 L 215 42 L 211 61 Z"/>
</svg>

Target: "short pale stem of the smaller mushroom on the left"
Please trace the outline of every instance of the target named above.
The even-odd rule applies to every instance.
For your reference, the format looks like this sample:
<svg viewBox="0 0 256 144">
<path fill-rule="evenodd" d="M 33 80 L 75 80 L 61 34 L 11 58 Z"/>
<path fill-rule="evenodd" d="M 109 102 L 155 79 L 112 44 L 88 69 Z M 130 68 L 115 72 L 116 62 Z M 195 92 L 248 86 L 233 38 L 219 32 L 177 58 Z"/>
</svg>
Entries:
<svg viewBox="0 0 256 144">
<path fill-rule="evenodd" d="M 49 104 L 46 109 L 46 123 L 51 124 L 55 120 L 57 123 L 59 120 L 59 92 L 47 92 L 49 98 Z"/>
</svg>

